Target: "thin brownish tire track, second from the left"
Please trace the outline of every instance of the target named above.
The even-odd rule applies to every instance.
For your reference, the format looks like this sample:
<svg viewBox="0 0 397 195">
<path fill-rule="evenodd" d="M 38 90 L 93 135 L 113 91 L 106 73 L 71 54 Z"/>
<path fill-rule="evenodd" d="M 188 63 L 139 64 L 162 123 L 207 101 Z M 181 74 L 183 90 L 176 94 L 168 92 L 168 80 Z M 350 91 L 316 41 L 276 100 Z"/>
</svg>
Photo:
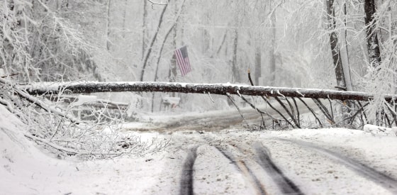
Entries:
<svg viewBox="0 0 397 195">
<path fill-rule="evenodd" d="M 221 149 L 220 147 L 214 146 L 216 150 L 218 150 L 223 156 L 225 156 L 230 162 L 237 167 L 237 169 L 245 175 L 249 180 L 252 180 L 251 183 L 255 184 L 257 194 L 267 195 L 267 191 L 264 188 L 264 185 L 259 181 L 259 179 L 255 176 L 254 172 L 247 167 L 244 161 L 242 160 L 235 160 L 234 157 L 227 154 L 225 150 Z"/>
</svg>

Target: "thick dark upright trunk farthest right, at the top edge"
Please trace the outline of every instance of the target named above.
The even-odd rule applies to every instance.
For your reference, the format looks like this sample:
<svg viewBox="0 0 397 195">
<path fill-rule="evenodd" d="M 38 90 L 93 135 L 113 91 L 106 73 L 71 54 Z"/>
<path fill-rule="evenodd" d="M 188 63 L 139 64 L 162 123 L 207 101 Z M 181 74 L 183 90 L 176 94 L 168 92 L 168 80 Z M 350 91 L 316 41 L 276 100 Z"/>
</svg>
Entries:
<svg viewBox="0 0 397 195">
<path fill-rule="evenodd" d="M 378 67 L 381 64 L 381 51 L 379 50 L 378 35 L 375 31 L 376 20 L 375 20 L 375 1 L 365 0 L 364 1 L 365 11 L 365 26 L 367 33 L 367 47 L 369 55 L 369 63 L 372 67 Z"/>
</svg>

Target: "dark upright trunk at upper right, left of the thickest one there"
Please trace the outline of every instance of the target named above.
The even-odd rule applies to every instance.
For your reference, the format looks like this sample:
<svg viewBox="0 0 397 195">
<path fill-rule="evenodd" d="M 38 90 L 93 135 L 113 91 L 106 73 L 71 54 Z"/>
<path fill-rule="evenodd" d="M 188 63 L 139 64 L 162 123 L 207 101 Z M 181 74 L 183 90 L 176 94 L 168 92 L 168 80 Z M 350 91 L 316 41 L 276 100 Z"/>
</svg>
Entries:
<svg viewBox="0 0 397 195">
<path fill-rule="evenodd" d="M 333 64 L 335 66 L 335 77 L 338 89 L 346 89 L 345 74 L 342 67 L 342 59 L 340 57 L 340 50 L 335 33 L 335 9 L 334 0 L 326 0 L 327 4 L 327 15 L 328 15 L 328 30 L 330 30 L 330 46 Z"/>
</svg>

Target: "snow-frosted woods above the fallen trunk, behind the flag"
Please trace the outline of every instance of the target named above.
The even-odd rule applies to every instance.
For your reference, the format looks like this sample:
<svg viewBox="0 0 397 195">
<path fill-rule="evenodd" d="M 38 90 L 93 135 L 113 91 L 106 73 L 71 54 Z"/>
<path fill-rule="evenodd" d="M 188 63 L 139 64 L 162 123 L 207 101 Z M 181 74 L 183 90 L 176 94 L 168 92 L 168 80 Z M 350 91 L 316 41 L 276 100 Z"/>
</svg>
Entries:
<svg viewBox="0 0 397 195">
<path fill-rule="evenodd" d="M 1 15 L 1 67 L 23 82 L 247 83 L 250 68 L 261 85 L 394 91 L 391 0 L 9 0 Z M 187 77 L 173 58 L 181 45 Z"/>
</svg>

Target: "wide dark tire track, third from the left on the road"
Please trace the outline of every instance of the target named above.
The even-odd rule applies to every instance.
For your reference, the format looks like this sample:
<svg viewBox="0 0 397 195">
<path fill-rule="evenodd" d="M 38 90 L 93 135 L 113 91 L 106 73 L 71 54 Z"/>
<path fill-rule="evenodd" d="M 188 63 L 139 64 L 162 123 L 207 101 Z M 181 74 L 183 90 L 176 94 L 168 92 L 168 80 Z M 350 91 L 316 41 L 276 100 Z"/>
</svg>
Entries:
<svg viewBox="0 0 397 195">
<path fill-rule="evenodd" d="M 291 179 L 286 177 L 281 169 L 274 164 L 270 158 L 267 147 L 264 147 L 262 143 L 258 142 L 254 143 L 253 146 L 259 157 L 258 164 L 261 165 L 264 170 L 269 172 L 273 181 L 277 184 L 277 186 L 279 186 L 279 189 L 284 194 L 303 194 L 301 189 L 299 189 L 298 186 L 291 181 Z"/>
</svg>

